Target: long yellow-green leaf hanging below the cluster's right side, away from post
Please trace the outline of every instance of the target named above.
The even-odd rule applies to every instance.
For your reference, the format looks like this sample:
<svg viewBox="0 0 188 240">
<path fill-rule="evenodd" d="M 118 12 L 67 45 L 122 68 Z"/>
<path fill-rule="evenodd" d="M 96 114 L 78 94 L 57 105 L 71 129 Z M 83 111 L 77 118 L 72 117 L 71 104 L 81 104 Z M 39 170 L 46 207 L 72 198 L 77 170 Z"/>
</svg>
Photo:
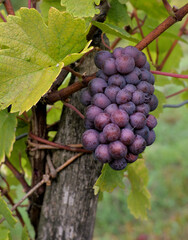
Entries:
<svg viewBox="0 0 188 240">
<path fill-rule="evenodd" d="M 147 210 L 150 206 L 148 184 L 148 170 L 143 159 L 139 159 L 127 167 L 128 179 L 131 183 L 131 192 L 127 199 L 128 208 L 136 218 L 147 219 Z"/>
</svg>

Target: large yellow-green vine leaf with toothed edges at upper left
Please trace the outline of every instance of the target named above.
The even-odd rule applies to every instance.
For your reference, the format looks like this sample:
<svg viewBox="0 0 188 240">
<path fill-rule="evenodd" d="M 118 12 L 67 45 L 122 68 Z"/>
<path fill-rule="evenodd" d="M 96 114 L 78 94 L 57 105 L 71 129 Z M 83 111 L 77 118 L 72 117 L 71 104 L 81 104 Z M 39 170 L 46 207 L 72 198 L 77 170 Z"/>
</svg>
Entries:
<svg viewBox="0 0 188 240">
<path fill-rule="evenodd" d="M 0 32 L 0 109 L 12 104 L 12 112 L 29 110 L 64 65 L 90 50 L 87 45 L 79 53 L 86 45 L 85 20 L 55 8 L 48 25 L 37 10 L 21 8 L 20 17 L 0 23 Z"/>
</svg>

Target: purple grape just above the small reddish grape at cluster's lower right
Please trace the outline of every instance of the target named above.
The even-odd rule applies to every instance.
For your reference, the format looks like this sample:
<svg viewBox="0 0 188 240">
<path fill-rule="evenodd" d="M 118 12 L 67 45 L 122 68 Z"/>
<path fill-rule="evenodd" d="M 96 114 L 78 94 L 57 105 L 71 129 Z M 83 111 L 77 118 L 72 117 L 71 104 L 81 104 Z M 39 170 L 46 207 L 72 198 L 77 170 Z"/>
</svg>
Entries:
<svg viewBox="0 0 188 240">
<path fill-rule="evenodd" d="M 130 153 L 138 155 L 146 148 L 146 141 L 140 135 L 136 135 L 134 142 L 129 146 Z"/>
</svg>

